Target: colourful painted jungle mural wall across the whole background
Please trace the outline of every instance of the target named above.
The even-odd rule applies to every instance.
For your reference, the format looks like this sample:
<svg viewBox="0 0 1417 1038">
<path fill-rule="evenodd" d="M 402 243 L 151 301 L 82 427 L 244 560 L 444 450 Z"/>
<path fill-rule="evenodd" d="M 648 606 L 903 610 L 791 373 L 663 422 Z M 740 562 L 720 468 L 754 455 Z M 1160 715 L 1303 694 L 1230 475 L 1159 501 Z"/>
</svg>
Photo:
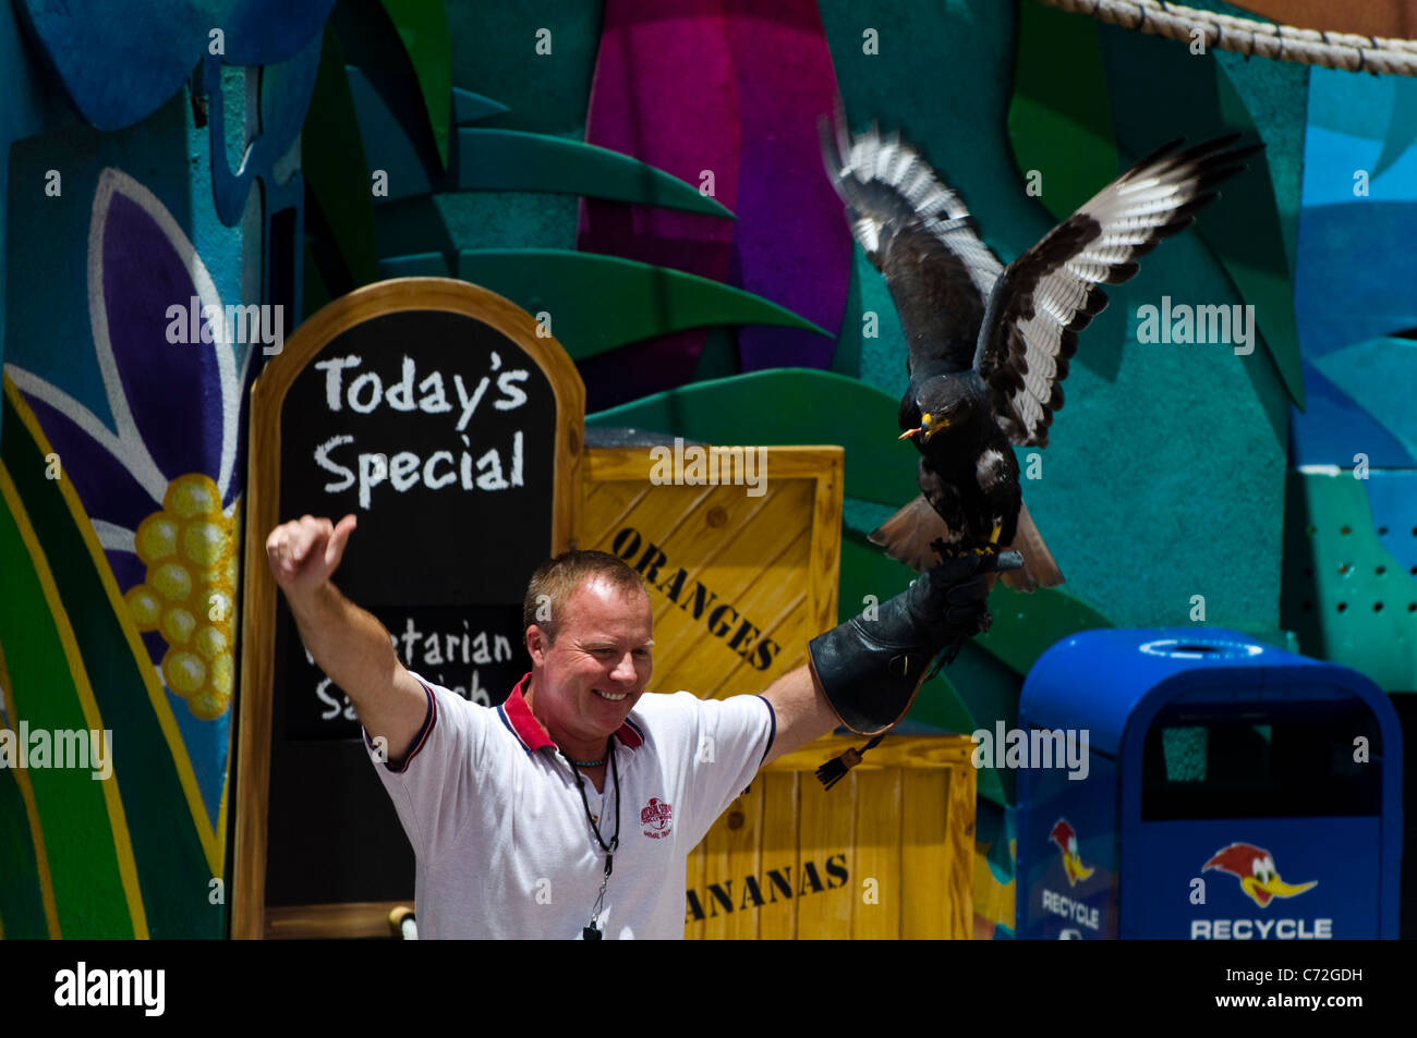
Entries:
<svg viewBox="0 0 1417 1038">
<path fill-rule="evenodd" d="M 289 336 L 383 278 L 483 285 L 553 324 L 592 428 L 843 445 L 843 619 L 905 585 L 866 541 L 917 487 L 900 323 L 820 170 L 837 96 L 1006 262 L 1165 140 L 1265 144 L 1110 287 L 1053 446 L 1020 450 L 1067 583 L 996 592 L 914 729 L 1013 726 L 1033 660 L 1108 624 L 1417 688 L 1417 81 L 1036 0 L 143 6 L 0 3 L 0 726 L 113 732 L 103 782 L 0 769 L 6 935 L 224 930 L 237 559 L 265 532 L 242 406 L 273 307 Z M 1251 348 L 1149 341 L 1146 307 L 1204 304 Z M 1012 800 L 981 775 L 983 933 L 1012 926 Z"/>
</svg>

